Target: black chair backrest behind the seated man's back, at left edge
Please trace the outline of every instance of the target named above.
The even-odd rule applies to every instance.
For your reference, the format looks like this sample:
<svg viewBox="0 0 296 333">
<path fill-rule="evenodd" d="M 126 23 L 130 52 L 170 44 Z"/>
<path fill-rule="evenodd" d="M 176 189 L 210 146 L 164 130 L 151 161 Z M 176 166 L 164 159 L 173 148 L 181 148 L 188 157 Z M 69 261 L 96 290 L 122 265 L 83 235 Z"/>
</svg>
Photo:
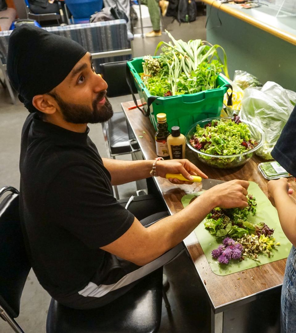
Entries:
<svg viewBox="0 0 296 333">
<path fill-rule="evenodd" d="M 19 315 L 30 269 L 20 225 L 19 195 L 11 193 L 0 203 L 0 305 L 13 318 Z"/>
</svg>

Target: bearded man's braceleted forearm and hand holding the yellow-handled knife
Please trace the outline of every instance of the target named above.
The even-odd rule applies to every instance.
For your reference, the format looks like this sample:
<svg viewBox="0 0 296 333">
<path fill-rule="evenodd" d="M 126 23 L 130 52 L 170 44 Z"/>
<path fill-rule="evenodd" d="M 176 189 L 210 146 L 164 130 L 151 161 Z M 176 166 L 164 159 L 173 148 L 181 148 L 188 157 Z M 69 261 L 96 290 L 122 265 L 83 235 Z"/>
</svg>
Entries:
<svg viewBox="0 0 296 333">
<path fill-rule="evenodd" d="M 151 177 L 150 171 L 152 170 L 152 165 L 154 162 L 153 160 L 121 161 L 105 158 L 102 160 L 104 166 L 111 174 L 112 185 L 121 185 L 131 181 Z M 207 178 L 207 176 L 202 171 L 200 171 L 194 164 L 186 159 L 157 161 L 156 173 L 158 176 L 164 178 L 166 173 L 182 173 L 182 175 L 188 179 L 188 182 L 184 182 L 178 179 L 170 178 L 169 180 L 174 184 L 191 184 L 191 174 Z"/>
</svg>

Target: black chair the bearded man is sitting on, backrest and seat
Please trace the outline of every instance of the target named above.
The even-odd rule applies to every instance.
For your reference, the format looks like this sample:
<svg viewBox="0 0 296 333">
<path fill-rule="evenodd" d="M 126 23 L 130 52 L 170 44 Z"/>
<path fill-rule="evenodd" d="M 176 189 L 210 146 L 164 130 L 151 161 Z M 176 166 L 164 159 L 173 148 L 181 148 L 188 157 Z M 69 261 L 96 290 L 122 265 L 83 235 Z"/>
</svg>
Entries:
<svg viewBox="0 0 296 333">
<path fill-rule="evenodd" d="M 0 316 L 17 333 L 24 333 L 14 318 L 20 311 L 20 299 L 31 269 L 26 255 L 19 220 L 18 191 L 6 186 L 0 197 L 12 193 L 0 203 Z M 149 274 L 125 295 L 93 310 L 75 310 L 51 300 L 47 333 L 154 333 L 161 319 L 162 268 Z"/>
</svg>

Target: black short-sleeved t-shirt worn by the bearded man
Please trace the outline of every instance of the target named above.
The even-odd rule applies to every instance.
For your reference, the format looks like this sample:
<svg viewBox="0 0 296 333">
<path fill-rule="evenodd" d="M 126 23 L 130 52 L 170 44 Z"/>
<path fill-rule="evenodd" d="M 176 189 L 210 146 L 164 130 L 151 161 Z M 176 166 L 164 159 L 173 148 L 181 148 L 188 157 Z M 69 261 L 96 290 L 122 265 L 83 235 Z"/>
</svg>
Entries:
<svg viewBox="0 0 296 333">
<path fill-rule="evenodd" d="M 20 214 L 32 267 L 54 297 L 108 276 L 111 254 L 100 249 L 132 225 L 114 198 L 111 175 L 86 133 L 31 114 L 20 155 Z"/>
</svg>

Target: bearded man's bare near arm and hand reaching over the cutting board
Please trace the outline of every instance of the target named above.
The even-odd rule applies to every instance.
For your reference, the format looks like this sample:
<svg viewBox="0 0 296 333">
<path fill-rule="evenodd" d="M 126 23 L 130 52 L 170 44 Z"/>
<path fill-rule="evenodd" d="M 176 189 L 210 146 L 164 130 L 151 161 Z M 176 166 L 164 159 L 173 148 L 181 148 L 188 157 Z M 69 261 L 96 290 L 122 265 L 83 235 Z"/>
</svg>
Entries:
<svg viewBox="0 0 296 333">
<path fill-rule="evenodd" d="M 205 191 L 180 212 L 148 228 L 135 218 L 131 227 L 112 243 L 101 247 L 137 265 L 145 265 L 187 237 L 215 207 L 246 207 L 249 182 L 232 180 Z"/>
</svg>

